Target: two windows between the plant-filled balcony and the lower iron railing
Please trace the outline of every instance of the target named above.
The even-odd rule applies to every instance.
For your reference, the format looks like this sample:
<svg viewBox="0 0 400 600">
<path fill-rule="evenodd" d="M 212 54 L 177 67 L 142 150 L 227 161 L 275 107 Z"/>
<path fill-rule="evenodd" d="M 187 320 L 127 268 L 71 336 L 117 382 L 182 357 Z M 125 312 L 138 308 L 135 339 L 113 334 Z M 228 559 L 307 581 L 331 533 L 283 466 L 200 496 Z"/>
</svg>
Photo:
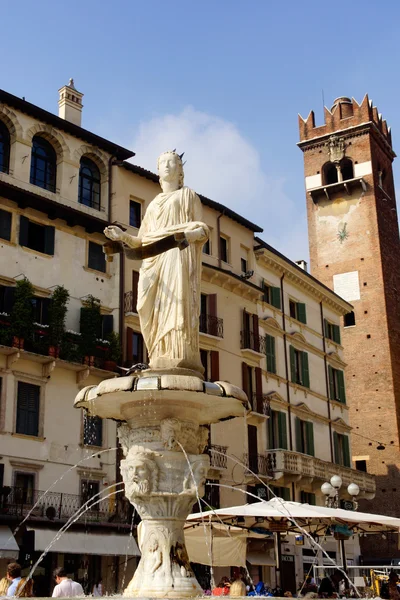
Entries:
<svg viewBox="0 0 400 600">
<path fill-rule="evenodd" d="M 40 386 L 25 381 L 17 385 L 17 416 L 15 432 L 32 437 L 40 436 Z M 103 445 L 103 421 L 84 414 L 83 444 Z"/>
</svg>

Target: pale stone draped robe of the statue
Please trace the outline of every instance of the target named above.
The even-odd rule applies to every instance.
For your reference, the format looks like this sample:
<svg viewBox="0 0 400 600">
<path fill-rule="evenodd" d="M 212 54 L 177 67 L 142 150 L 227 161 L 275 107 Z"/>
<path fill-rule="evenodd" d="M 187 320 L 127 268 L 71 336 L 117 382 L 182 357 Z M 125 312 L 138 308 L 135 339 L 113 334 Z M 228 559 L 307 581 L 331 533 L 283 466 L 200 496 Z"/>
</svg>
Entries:
<svg viewBox="0 0 400 600">
<path fill-rule="evenodd" d="M 138 237 L 142 244 L 168 235 L 201 228 L 201 240 L 187 248 L 173 248 L 146 258 L 139 276 L 137 310 L 150 367 L 172 366 L 201 369 L 199 314 L 201 252 L 208 228 L 200 222 L 201 202 L 183 187 L 161 193 L 150 203 Z"/>
</svg>

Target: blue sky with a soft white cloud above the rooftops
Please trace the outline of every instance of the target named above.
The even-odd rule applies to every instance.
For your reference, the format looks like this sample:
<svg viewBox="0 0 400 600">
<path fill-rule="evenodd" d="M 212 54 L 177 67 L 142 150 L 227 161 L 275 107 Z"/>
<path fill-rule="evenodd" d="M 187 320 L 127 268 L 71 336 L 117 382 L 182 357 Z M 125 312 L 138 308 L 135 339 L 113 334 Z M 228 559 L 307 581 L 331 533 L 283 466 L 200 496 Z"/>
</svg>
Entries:
<svg viewBox="0 0 400 600">
<path fill-rule="evenodd" d="M 297 113 L 320 124 L 322 90 L 329 107 L 368 93 L 396 150 L 395 0 L 3 0 L 2 16 L 1 88 L 57 112 L 74 77 L 84 127 L 152 170 L 159 152 L 185 150 L 186 184 L 292 259 L 308 253 Z"/>
</svg>

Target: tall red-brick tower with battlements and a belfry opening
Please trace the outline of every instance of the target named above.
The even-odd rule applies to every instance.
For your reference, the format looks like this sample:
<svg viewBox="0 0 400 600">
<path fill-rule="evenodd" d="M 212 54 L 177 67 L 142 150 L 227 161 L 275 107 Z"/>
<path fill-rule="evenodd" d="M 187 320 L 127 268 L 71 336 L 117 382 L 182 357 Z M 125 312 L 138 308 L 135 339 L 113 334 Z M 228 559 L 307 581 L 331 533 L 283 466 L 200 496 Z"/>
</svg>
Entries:
<svg viewBox="0 0 400 600">
<path fill-rule="evenodd" d="M 376 475 L 368 512 L 400 516 L 400 244 L 390 129 L 365 96 L 299 117 L 312 274 L 351 302 L 343 323 L 353 466 Z M 363 538 L 365 561 L 400 556 Z M 396 539 L 395 539 L 396 538 Z"/>
</svg>

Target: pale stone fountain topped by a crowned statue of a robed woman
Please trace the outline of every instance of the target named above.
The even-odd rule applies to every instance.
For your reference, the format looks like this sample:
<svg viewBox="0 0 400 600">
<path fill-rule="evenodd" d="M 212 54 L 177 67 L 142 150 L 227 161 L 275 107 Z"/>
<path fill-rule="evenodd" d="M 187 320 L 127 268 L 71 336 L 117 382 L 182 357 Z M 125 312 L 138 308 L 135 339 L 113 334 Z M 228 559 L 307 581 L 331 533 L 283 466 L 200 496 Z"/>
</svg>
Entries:
<svg viewBox="0 0 400 600">
<path fill-rule="evenodd" d="M 124 596 L 191 598 L 202 590 L 183 526 L 204 495 L 210 465 L 206 425 L 242 417 L 248 402 L 230 383 L 204 381 L 198 323 L 208 227 L 198 196 L 183 186 L 182 156 L 162 154 L 158 170 L 162 193 L 150 203 L 138 236 L 107 227 L 111 241 L 104 248 L 110 256 L 123 249 L 143 259 L 137 309 L 149 368 L 82 389 L 75 407 L 121 422 L 125 494 L 142 519 L 142 557 Z"/>
</svg>

